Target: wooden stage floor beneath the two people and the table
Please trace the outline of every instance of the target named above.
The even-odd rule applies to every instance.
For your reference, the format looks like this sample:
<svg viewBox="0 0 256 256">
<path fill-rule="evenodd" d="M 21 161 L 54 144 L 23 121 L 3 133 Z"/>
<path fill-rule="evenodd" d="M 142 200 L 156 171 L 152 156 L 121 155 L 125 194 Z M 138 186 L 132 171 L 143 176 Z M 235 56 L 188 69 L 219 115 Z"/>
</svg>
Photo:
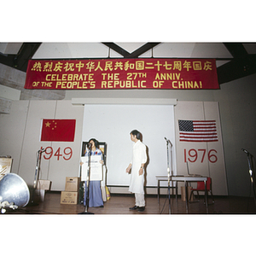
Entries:
<svg viewBox="0 0 256 256">
<path fill-rule="evenodd" d="M 256 213 L 253 198 L 237 196 L 215 196 L 212 203 L 209 197 L 209 214 L 254 214 Z M 17 210 L 8 210 L 5 214 L 79 214 L 84 212 L 84 206 L 64 205 L 60 203 L 61 192 L 47 192 L 44 201 L 38 205 L 27 205 Z M 146 196 L 146 208 L 144 212 L 129 210 L 134 206 L 134 195 L 111 195 L 110 200 L 104 203 L 104 207 L 90 207 L 88 212 L 95 214 L 169 214 L 169 200 L 166 195 L 161 195 L 160 202 L 156 195 Z M 178 197 L 171 198 L 171 213 L 186 214 L 185 202 Z M 189 214 L 207 214 L 207 207 L 203 198 L 199 202 L 189 203 Z"/>
</svg>

